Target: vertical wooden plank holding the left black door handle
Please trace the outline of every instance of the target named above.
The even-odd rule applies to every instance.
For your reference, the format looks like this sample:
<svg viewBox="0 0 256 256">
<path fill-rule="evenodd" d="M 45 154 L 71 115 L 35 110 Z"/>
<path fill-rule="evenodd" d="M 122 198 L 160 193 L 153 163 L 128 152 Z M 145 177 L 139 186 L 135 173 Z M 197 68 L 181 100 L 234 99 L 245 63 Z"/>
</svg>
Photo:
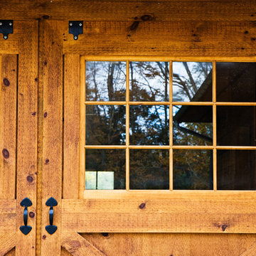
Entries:
<svg viewBox="0 0 256 256">
<path fill-rule="evenodd" d="M 16 25 L 17 26 L 17 25 Z M 21 21 L 22 36 L 18 55 L 18 129 L 17 129 L 17 215 L 16 256 L 36 254 L 36 175 L 38 122 L 38 21 Z M 28 225 L 31 233 L 23 235 L 23 198 L 28 197 Z"/>
</svg>

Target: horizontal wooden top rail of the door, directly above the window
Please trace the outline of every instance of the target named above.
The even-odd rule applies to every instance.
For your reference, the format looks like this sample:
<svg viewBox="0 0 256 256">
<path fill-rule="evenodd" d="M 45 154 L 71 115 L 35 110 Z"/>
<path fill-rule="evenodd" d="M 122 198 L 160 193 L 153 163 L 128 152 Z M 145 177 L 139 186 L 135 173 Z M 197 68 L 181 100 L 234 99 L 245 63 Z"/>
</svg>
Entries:
<svg viewBox="0 0 256 256">
<path fill-rule="evenodd" d="M 86 21 L 78 41 L 61 22 L 64 53 L 170 57 L 253 56 L 255 22 L 178 21 L 139 23 Z M 169 58 L 171 60 L 171 58 Z"/>
</svg>

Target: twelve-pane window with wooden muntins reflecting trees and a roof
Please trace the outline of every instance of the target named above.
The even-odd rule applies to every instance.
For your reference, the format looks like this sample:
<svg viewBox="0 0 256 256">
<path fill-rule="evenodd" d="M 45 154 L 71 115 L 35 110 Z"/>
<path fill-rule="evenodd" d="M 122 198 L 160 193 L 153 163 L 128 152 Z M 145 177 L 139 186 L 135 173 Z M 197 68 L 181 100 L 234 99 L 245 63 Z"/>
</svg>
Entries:
<svg viewBox="0 0 256 256">
<path fill-rule="evenodd" d="M 255 190 L 256 64 L 86 60 L 85 191 Z"/>
</svg>

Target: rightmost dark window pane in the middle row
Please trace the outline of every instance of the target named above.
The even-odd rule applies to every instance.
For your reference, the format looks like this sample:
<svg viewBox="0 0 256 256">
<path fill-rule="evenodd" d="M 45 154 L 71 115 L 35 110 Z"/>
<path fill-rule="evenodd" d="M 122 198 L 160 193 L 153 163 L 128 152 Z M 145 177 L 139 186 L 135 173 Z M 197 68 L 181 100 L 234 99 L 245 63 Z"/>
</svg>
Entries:
<svg viewBox="0 0 256 256">
<path fill-rule="evenodd" d="M 217 106 L 220 146 L 255 146 L 255 107 Z"/>
</svg>

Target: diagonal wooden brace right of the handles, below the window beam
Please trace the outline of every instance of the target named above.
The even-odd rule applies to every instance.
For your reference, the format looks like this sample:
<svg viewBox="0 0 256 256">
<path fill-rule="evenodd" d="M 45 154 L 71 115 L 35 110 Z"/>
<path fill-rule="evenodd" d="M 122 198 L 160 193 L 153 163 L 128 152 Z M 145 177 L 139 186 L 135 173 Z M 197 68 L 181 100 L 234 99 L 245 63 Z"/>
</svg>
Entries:
<svg viewBox="0 0 256 256">
<path fill-rule="evenodd" d="M 107 256 L 101 252 L 97 247 L 92 245 L 87 239 L 82 238 L 81 235 L 75 232 L 61 234 L 62 247 L 74 256 Z"/>
</svg>

